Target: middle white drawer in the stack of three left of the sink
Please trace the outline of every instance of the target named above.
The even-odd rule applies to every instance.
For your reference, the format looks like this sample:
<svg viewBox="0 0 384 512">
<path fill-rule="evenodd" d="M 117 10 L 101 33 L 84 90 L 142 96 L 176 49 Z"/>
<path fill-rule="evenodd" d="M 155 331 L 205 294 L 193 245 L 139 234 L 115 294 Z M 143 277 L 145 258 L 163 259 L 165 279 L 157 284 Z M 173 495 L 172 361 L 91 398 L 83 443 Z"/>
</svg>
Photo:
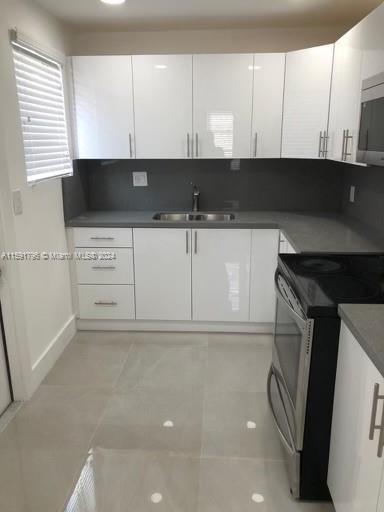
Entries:
<svg viewBox="0 0 384 512">
<path fill-rule="evenodd" d="M 115 249 L 113 260 L 76 260 L 79 284 L 133 284 L 133 249 Z"/>
</svg>

